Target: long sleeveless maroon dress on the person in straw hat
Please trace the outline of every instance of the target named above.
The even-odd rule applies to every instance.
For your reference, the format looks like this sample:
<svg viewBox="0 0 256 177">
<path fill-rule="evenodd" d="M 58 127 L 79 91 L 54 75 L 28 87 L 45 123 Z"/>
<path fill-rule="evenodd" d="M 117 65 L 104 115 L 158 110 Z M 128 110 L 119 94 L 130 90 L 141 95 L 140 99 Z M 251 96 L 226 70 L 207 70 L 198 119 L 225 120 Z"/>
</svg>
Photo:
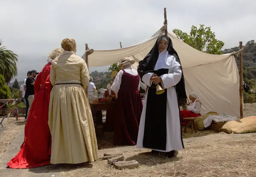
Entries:
<svg viewBox="0 0 256 177">
<path fill-rule="evenodd" d="M 138 91 L 140 76 L 123 71 L 118 91 L 118 119 L 115 122 L 113 145 L 136 145 L 142 113 L 142 99 Z"/>
</svg>

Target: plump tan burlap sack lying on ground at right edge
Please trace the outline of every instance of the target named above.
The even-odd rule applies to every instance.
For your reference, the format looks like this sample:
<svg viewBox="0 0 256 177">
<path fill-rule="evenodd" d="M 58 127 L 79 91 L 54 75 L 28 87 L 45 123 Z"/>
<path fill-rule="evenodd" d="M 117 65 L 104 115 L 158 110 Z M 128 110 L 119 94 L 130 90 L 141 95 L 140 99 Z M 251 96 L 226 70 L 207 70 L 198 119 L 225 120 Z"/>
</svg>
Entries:
<svg viewBox="0 0 256 177">
<path fill-rule="evenodd" d="M 256 116 L 227 122 L 221 128 L 226 133 L 253 133 L 256 132 Z"/>
</svg>

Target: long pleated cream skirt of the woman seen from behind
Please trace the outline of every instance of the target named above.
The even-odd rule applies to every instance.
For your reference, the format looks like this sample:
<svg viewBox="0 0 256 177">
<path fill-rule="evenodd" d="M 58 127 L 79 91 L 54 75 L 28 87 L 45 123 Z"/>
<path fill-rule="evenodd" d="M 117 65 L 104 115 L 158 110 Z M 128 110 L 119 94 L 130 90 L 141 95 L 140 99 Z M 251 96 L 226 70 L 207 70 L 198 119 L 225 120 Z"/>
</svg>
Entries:
<svg viewBox="0 0 256 177">
<path fill-rule="evenodd" d="M 83 87 L 55 85 L 49 103 L 51 163 L 82 163 L 98 159 L 93 117 Z"/>
</svg>

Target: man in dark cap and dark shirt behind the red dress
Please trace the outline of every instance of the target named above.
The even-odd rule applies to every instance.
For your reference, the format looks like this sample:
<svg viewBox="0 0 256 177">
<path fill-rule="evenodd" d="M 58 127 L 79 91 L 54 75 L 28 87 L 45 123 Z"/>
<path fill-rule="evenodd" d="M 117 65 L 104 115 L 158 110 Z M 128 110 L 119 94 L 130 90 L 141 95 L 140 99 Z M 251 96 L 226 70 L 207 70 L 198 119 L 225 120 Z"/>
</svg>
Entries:
<svg viewBox="0 0 256 177">
<path fill-rule="evenodd" d="M 28 78 L 26 78 L 26 93 L 25 93 L 26 115 L 25 115 L 25 121 L 26 121 L 26 118 L 29 116 L 29 110 L 30 110 L 30 107 L 31 107 L 32 102 L 34 100 L 35 77 L 38 74 L 39 73 L 36 70 L 32 70 L 31 73 L 30 73 L 30 76 Z"/>
</svg>

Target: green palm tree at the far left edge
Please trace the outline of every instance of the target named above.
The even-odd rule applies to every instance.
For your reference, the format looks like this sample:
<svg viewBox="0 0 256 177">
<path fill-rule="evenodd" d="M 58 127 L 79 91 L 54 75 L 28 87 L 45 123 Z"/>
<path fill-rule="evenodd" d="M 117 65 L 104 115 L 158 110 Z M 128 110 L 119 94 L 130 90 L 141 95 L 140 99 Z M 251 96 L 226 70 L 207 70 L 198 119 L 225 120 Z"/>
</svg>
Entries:
<svg viewBox="0 0 256 177">
<path fill-rule="evenodd" d="M 16 62 L 18 61 L 18 55 L 11 50 L 7 50 L 6 46 L 1 46 L 2 42 L 0 40 L 0 74 L 5 78 L 6 84 L 9 84 L 12 78 L 17 76 Z"/>
</svg>

